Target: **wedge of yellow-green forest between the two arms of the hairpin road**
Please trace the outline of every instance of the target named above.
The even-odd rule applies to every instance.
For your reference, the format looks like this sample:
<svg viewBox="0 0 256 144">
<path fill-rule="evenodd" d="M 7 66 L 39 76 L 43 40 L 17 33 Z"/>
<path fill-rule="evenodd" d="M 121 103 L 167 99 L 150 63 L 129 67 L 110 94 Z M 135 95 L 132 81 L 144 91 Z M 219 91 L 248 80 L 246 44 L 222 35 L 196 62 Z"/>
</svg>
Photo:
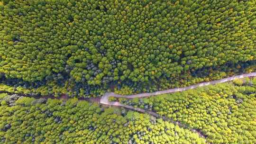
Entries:
<svg viewBox="0 0 256 144">
<path fill-rule="evenodd" d="M 211 144 L 256 144 L 256 78 L 145 99 L 110 99 L 169 117 Z"/>
</svg>

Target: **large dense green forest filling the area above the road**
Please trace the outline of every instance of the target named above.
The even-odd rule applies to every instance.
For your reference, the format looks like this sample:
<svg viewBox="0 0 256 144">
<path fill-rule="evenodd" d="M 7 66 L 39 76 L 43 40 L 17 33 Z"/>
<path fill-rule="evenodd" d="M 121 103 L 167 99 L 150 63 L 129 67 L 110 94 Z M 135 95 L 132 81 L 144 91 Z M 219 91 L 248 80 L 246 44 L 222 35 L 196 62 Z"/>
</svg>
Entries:
<svg viewBox="0 0 256 144">
<path fill-rule="evenodd" d="M 2 0 L 0 85 L 97 97 L 256 68 L 255 0 Z"/>
</svg>

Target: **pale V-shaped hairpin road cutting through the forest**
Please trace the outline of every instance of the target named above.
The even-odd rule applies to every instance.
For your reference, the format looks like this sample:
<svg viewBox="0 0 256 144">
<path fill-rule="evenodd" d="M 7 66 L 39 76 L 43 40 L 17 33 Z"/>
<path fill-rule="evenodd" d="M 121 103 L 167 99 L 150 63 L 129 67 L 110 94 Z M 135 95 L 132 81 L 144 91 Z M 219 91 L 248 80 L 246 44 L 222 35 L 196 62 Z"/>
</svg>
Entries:
<svg viewBox="0 0 256 144">
<path fill-rule="evenodd" d="M 151 93 L 141 93 L 141 94 L 135 94 L 135 95 L 119 95 L 119 94 L 115 94 L 114 92 L 107 92 L 101 97 L 100 103 L 105 104 L 105 105 L 129 108 L 129 109 L 133 109 L 133 110 L 136 110 L 136 111 L 139 111 L 139 112 L 142 112 L 142 113 L 150 114 L 154 117 L 160 117 L 164 120 L 167 120 L 171 123 L 174 123 L 174 125 L 178 125 L 178 126 L 183 127 L 185 129 L 189 129 L 190 131 L 192 131 L 194 133 L 197 133 L 200 137 L 203 137 L 205 139 L 205 142 L 207 144 L 210 144 L 206 141 L 207 135 L 204 135 L 200 130 L 189 128 L 189 126 L 187 126 L 185 124 L 182 124 L 181 122 L 174 121 L 173 119 L 170 119 L 170 118 L 167 118 L 167 117 L 164 117 L 164 116 L 160 116 L 159 114 L 157 114 L 153 111 L 146 111 L 145 109 L 134 108 L 132 106 L 124 105 L 120 102 L 110 102 L 109 97 L 112 96 L 112 97 L 116 97 L 116 98 L 133 99 L 133 98 L 143 98 L 143 97 L 149 97 L 149 96 L 157 96 L 157 95 L 161 95 L 161 94 L 174 93 L 174 92 L 184 91 L 184 90 L 190 90 L 190 89 L 195 89 L 195 88 L 198 88 L 198 87 L 203 87 L 203 86 L 207 86 L 207 85 L 213 85 L 213 84 L 217 84 L 217 83 L 223 83 L 223 82 L 227 82 L 227 81 L 233 81 L 233 80 L 236 80 L 236 79 L 242 79 L 242 78 L 253 77 L 253 76 L 256 76 L 256 72 L 231 76 L 231 77 L 216 80 L 216 81 L 202 82 L 202 83 L 199 83 L 199 84 L 195 84 L 195 85 L 188 86 L 188 87 L 183 87 L 183 88 L 174 88 L 174 89 L 169 89 L 169 90 L 155 91 L 155 92 L 151 92 Z"/>
</svg>

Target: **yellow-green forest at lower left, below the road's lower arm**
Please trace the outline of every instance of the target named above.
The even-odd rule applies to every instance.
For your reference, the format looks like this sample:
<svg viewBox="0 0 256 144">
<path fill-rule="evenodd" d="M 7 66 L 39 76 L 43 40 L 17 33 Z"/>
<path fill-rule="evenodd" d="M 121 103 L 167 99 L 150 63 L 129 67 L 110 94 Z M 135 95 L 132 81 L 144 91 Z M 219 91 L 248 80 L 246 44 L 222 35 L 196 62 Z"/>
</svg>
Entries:
<svg viewBox="0 0 256 144">
<path fill-rule="evenodd" d="M 10 97 L 16 96 L 4 99 Z M 162 119 L 131 111 L 121 116 L 77 99 L 19 97 L 12 106 L 0 104 L 1 144 L 205 144 L 196 133 Z"/>
</svg>

